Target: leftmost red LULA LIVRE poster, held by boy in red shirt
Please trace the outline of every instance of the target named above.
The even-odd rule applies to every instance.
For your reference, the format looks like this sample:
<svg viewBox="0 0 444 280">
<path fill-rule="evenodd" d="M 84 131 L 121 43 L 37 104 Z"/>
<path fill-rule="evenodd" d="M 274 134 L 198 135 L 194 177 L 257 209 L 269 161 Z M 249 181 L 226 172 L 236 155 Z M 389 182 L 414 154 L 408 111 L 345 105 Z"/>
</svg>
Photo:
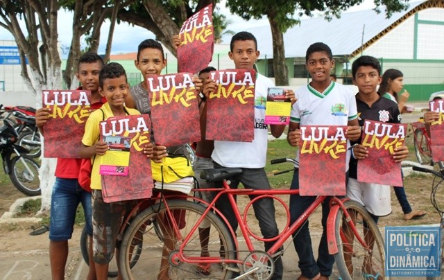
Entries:
<svg viewBox="0 0 444 280">
<path fill-rule="evenodd" d="M 50 110 L 49 119 L 44 125 L 44 157 L 78 157 L 89 117 L 90 100 L 90 91 L 42 92 L 43 107 Z"/>
</svg>

